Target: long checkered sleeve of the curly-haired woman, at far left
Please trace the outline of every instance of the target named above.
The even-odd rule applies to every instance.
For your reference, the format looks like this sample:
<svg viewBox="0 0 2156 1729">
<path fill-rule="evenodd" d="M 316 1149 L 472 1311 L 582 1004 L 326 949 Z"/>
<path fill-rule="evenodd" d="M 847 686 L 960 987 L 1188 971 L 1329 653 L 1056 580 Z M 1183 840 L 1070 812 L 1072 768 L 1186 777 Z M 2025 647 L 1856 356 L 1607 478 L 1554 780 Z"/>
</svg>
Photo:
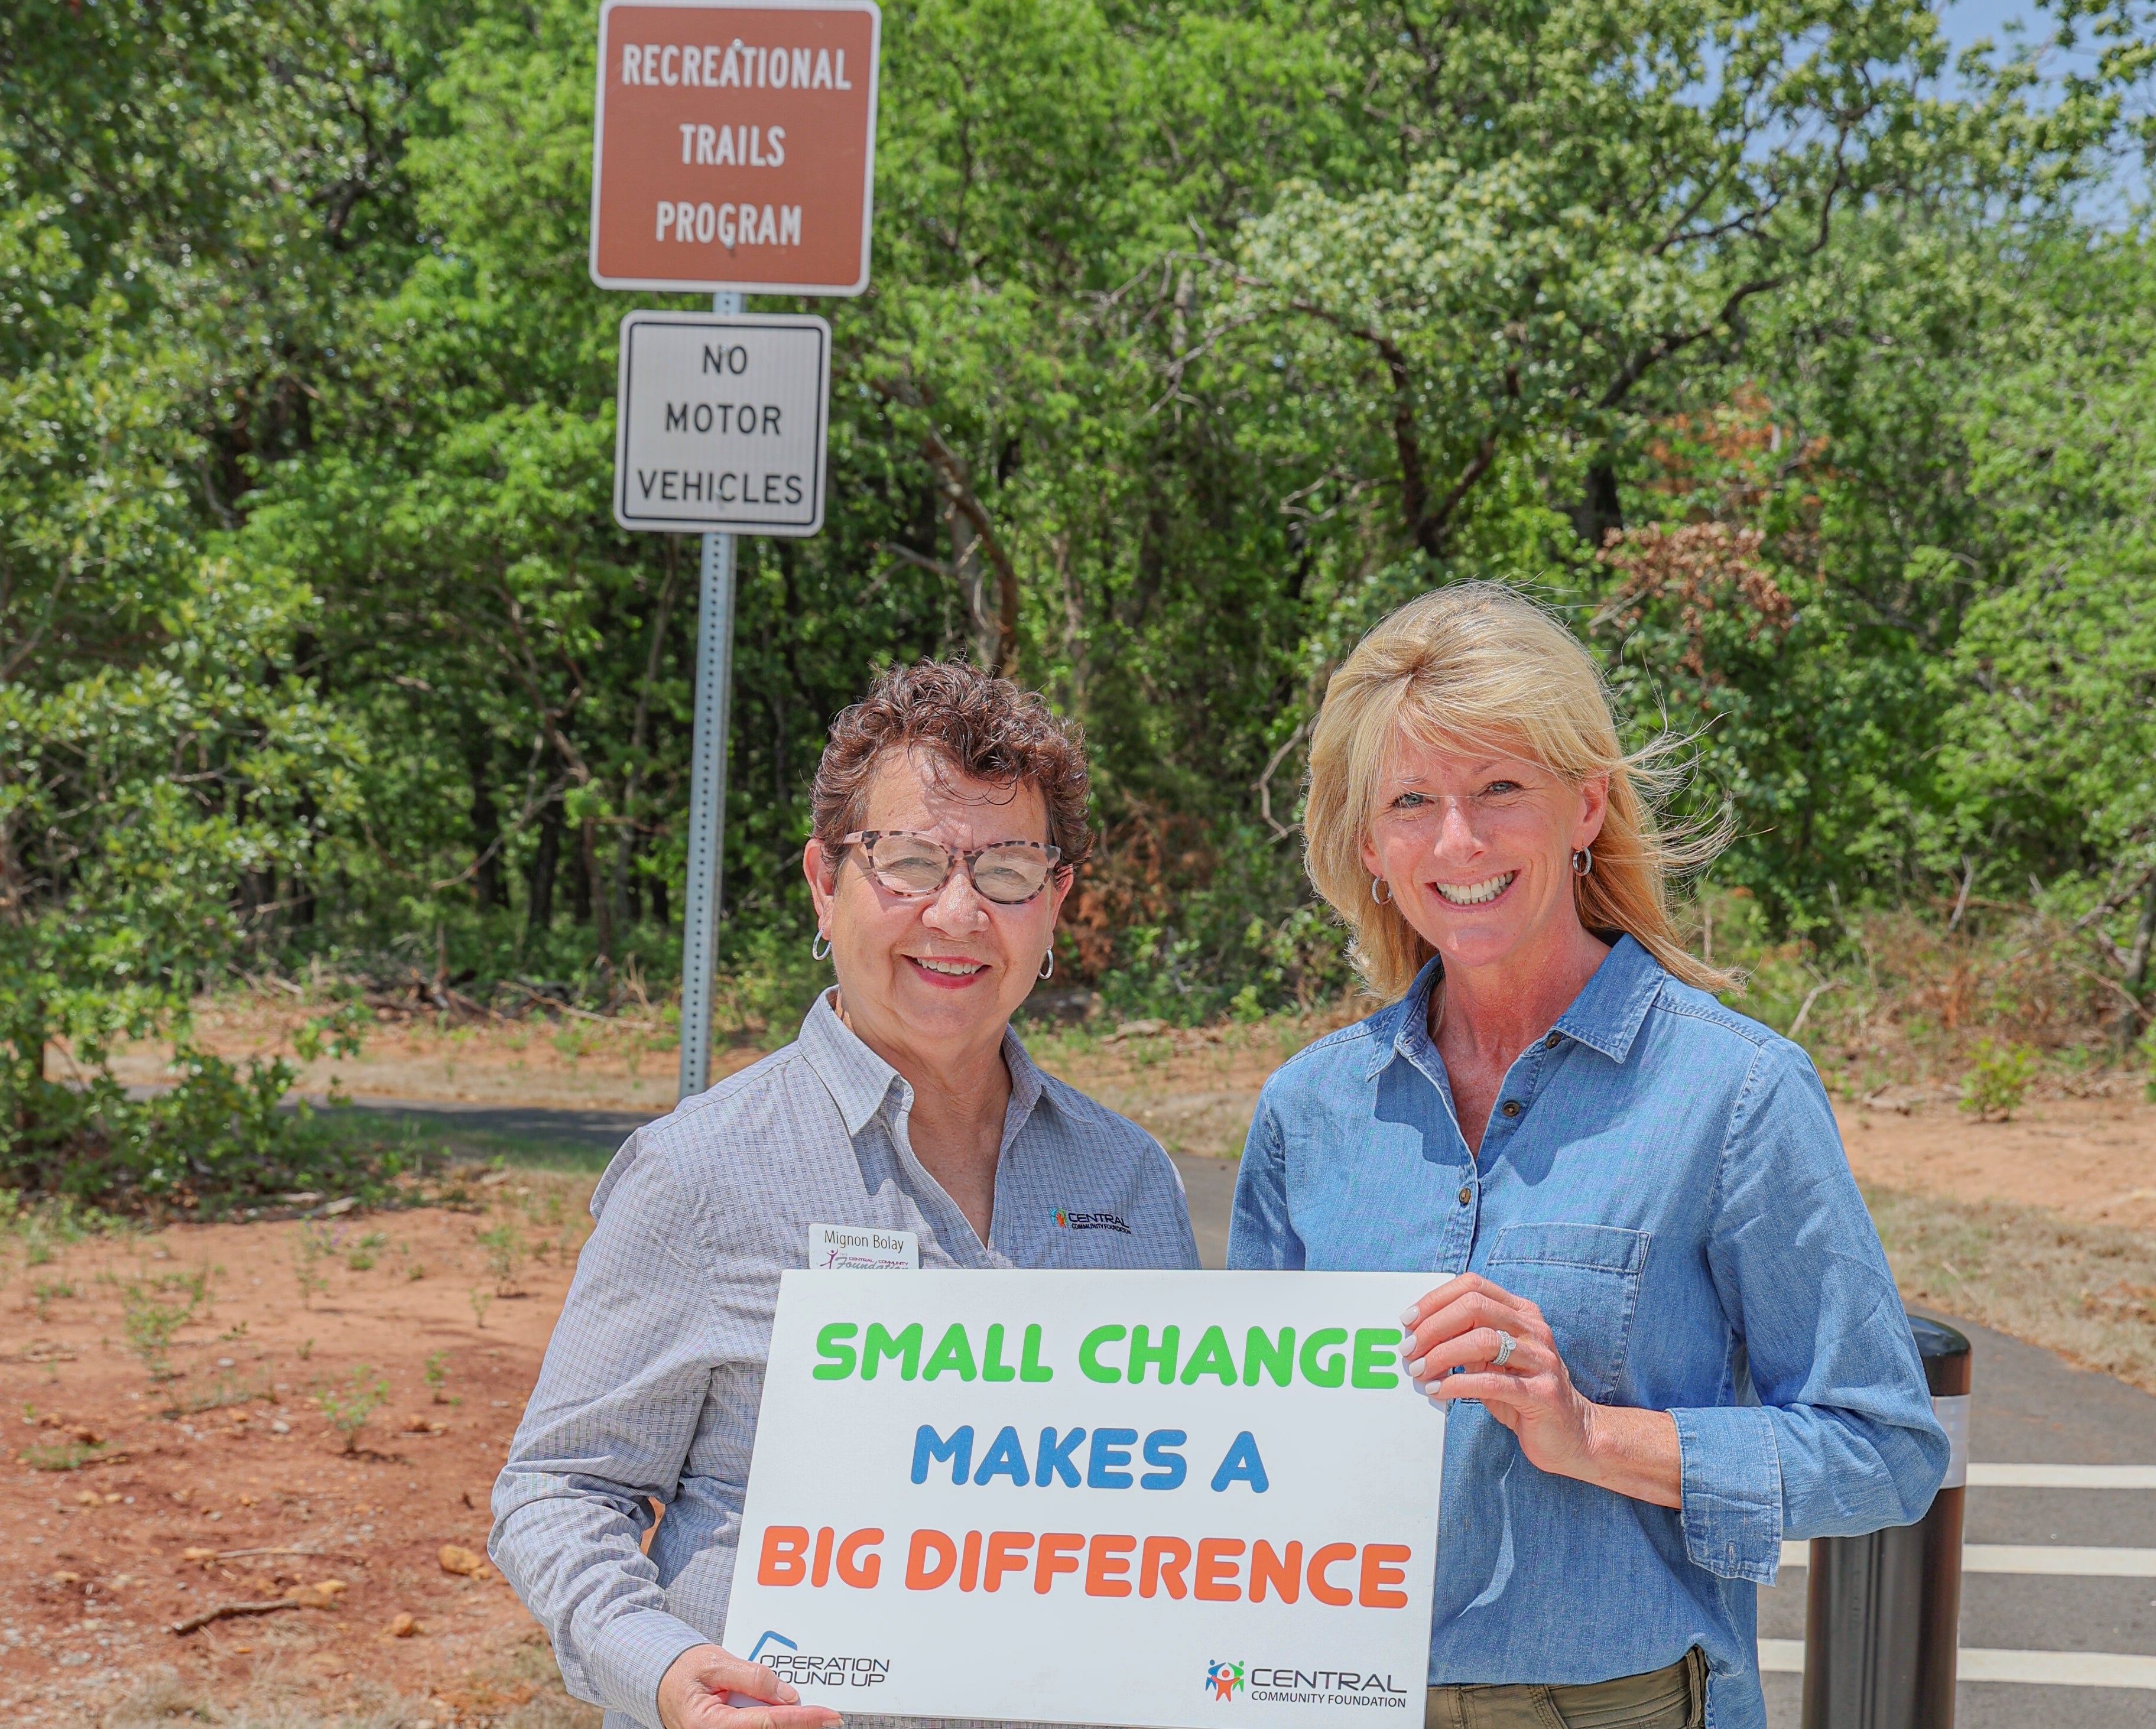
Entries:
<svg viewBox="0 0 2156 1729">
<path fill-rule="evenodd" d="M 711 1298 L 694 1201 L 634 1143 L 623 1160 L 494 1483 L 487 1554 L 552 1638 L 569 1692 L 655 1725 L 660 1677 L 709 1643 L 666 1610 L 642 1533 L 696 1436 Z"/>
</svg>

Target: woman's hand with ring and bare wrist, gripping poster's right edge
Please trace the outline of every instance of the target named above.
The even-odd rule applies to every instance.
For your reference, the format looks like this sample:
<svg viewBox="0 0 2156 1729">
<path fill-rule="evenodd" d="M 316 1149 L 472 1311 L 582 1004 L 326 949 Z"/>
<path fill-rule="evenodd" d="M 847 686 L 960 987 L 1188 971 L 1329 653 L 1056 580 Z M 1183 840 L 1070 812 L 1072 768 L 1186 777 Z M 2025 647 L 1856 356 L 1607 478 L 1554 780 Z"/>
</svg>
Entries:
<svg viewBox="0 0 2156 1729">
<path fill-rule="evenodd" d="M 1578 1477 L 1656 1507 L 1684 1505 L 1675 1419 L 1580 1397 L 1550 1324 L 1526 1298 L 1464 1272 L 1399 1319 L 1408 1330 L 1399 1356 L 1432 1403 L 1481 1401 L 1520 1438 L 1529 1464 L 1552 1477 Z M 1501 1332 L 1514 1341 L 1503 1369 Z"/>
</svg>

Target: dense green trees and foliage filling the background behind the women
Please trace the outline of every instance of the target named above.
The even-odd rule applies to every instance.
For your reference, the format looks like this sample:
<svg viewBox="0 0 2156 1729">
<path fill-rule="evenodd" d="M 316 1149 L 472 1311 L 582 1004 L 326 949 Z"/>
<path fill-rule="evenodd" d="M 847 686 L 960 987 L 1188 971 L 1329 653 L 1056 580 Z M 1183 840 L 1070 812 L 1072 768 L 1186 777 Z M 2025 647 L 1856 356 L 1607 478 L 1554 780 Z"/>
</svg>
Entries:
<svg viewBox="0 0 2156 1729">
<path fill-rule="evenodd" d="M 2156 261 L 2074 198 L 2152 50 L 2137 0 L 2057 26 L 2089 52 L 2046 82 L 1947 80 L 1919 0 L 886 17 L 828 526 L 737 573 L 733 1031 L 828 981 L 806 780 L 925 653 L 1087 724 L 1059 979 L 1169 1022 L 1337 994 L 1309 722 L 1457 576 L 1567 612 L 1634 737 L 1697 735 L 1680 815 L 1733 815 L 1766 938 L 2033 873 L 2145 992 Z M 591 58 L 565 0 L 0 15 L 0 1184 L 403 1168 L 185 1046 L 235 968 L 671 977 L 696 548 L 608 513 Z M 175 1031 L 129 1099 L 114 1043 Z"/>
</svg>

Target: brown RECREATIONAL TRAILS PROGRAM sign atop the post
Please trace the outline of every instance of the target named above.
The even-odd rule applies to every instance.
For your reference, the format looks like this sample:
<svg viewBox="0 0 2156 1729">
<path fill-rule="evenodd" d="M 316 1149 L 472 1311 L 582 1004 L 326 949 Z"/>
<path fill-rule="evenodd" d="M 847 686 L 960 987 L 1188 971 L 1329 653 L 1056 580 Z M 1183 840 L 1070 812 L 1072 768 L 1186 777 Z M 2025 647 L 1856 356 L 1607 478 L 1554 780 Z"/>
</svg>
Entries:
<svg viewBox="0 0 2156 1729">
<path fill-rule="evenodd" d="M 606 0 L 591 280 L 867 289 L 880 34 L 873 0 Z"/>
</svg>

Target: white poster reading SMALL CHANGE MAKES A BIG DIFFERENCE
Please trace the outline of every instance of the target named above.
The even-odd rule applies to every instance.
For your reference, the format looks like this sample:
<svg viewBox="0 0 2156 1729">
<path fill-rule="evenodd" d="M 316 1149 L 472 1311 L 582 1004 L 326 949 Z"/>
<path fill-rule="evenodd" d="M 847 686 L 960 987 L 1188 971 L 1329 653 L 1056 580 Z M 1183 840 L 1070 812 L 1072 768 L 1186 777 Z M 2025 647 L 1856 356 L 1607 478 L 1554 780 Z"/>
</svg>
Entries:
<svg viewBox="0 0 2156 1729">
<path fill-rule="evenodd" d="M 843 1712 L 1419 1725 L 1432 1283 L 785 1274 L 727 1647 Z"/>
</svg>

